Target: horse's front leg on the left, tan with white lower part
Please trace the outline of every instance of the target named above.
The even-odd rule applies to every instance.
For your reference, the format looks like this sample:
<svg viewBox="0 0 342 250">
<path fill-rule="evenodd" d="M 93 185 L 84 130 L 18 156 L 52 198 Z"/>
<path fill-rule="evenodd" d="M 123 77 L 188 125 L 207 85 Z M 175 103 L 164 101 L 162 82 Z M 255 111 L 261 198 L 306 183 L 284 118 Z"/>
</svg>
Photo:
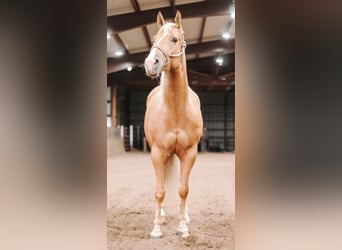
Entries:
<svg viewBox="0 0 342 250">
<path fill-rule="evenodd" d="M 166 163 L 167 155 L 163 154 L 162 151 L 157 147 L 152 147 L 151 158 L 156 176 L 156 190 L 155 200 L 156 208 L 154 214 L 154 227 L 151 232 L 151 238 L 156 239 L 162 236 L 160 225 L 162 224 L 162 203 L 165 198 L 165 174 L 166 174 Z"/>
</svg>

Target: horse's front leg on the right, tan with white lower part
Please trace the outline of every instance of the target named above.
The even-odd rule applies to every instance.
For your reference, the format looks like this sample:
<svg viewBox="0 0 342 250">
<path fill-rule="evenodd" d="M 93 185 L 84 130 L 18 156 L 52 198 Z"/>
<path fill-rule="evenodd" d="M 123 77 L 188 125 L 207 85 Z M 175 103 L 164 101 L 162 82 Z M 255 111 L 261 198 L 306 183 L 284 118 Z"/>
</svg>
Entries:
<svg viewBox="0 0 342 250">
<path fill-rule="evenodd" d="M 180 211 L 179 211 L 179 224 L 177 227 L 177 234 L 181 235 L 183 238 L 189 236 L 189 229 L 187 227 L 187 223 L 190 222 L 190 218 L 188 215 L 188 208 L 186 205 L 186 199 L 189 192 L 189 177 L 191 169 L 195 163 L 197 156 L 197 147 L 193 147 L 188 150 L 184 155 L 181 156 L 181 164 L 180 164 L 180 185 L 179 185 L 179 196 L 181 199 L 180 202 Z"/>
</svg>

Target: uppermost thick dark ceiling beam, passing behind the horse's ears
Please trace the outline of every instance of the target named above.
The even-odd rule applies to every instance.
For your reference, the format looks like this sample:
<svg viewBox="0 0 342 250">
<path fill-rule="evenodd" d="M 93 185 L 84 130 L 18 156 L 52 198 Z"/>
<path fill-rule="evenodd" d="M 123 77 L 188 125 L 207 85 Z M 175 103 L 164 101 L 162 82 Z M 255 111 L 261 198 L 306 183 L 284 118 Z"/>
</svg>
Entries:
<svg viewBox="0 0 342 250">
<path fill-rule="evenodd" d="M 227 15 L 232 0 L 210 0 L 175 6 L 182 13 L 183 18 Z M 121 14 L 107 17 L 107 27 L 114 34 L 125 30 L 141 27 L 156 22 L 158 11 L 164 18 L 173 18 L 174 11 L 171 7 L 145 10 L 135 13 Z"/>
</svg>

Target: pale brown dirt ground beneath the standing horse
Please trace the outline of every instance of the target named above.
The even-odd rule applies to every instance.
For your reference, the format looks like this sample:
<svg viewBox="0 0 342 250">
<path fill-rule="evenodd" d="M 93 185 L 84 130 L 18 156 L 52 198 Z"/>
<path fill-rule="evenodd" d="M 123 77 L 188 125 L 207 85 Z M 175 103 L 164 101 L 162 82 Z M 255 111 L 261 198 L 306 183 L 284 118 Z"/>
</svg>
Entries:
<svg viewBox="0 0 342 250">
<path fill-rule="evenodd" d="M 190 236 L 176 235 L 178 202 L 165 205 L 163 237 L 150 239 L 154 217 L 154 172 L 148 153 L 107 160 L 108 249 L 234 249 L 235 155 L 199 153 L 190 176 Z"/>
</svg>

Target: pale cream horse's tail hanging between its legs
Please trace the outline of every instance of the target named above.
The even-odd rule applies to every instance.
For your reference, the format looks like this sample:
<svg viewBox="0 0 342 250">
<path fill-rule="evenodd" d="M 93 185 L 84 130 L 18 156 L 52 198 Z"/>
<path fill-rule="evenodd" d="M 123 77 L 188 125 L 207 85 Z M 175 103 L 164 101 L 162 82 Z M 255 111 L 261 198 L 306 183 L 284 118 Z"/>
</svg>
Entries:
<svg viewBox="0 0 342 250">
<path fill-rule="evenodd" d="M 179 183 L 179 159 L 172 155 L 166 166 L 165 176 L 165 200 L 167 203 L 174 203 L 178 198 Z"/>
</svg>

